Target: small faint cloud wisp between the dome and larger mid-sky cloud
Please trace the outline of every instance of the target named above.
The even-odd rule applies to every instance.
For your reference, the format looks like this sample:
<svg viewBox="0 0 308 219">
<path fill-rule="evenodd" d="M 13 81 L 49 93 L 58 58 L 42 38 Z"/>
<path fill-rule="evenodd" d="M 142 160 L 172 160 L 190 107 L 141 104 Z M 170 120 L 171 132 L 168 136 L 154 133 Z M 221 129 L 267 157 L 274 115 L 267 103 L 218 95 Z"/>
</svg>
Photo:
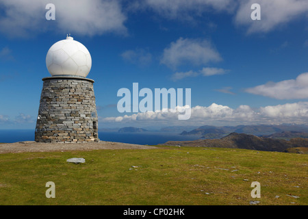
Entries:
<svg viewBox="0 0 308 219">
<path fill-rule="evenodd" d="M 123 60 L 140 66 L 146 66 L 152 62 L 151 53 L 144 49 L 127 50 L 124 51 L 121 56 Z"/>
</svg>

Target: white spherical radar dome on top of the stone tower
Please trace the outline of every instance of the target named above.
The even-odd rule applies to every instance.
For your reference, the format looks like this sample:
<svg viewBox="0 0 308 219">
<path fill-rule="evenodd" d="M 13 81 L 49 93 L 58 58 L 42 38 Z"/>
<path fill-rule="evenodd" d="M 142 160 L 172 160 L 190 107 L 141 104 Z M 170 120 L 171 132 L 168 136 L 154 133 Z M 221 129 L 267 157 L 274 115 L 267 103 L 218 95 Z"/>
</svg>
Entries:
<svg viewBox="0 0 308 219">
<path fill-rule="evenodd" d="M 50 47 L 46 56 L 46 66 L 52 76 L 87 77 L 92 66 L 92 58 L 83 44 L 67 36 L 66 40 L 60 40 Z"/>
</svg>

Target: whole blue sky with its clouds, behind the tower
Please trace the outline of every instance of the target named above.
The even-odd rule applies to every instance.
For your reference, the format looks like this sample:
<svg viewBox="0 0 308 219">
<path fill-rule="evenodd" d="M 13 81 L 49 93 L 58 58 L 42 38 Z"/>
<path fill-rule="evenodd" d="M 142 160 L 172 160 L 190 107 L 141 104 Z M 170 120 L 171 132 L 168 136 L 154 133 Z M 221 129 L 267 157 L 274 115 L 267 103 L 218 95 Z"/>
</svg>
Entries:
<svg viewBox="0 0 308 219">
<path fill-rule="evenodd" d="M 304 0 L 2 0 L 0 129 L 35 128 L 46 54 L 66 34 L 91 53 L 100 128 L 307 124 L 307 12 Z M 191 88 L 190 120 L 120 114 L 116 94 L 135 82 Z"/>
</svg>

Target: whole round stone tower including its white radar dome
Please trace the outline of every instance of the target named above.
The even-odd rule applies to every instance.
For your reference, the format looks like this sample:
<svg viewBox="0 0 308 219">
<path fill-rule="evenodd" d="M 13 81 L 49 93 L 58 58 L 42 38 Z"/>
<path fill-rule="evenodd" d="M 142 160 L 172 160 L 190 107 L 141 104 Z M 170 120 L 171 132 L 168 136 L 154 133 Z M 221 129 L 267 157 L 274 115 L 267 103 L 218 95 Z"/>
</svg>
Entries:
<svg viewBox="0 0 308 219">
<path fill-rule="evenodd" d="M 36 123 L 36 142 L 98 142 L 98 119 L 86 47 L 67 36 L 46 57 L 52 77 L 45 77 Z"/>
</svg>

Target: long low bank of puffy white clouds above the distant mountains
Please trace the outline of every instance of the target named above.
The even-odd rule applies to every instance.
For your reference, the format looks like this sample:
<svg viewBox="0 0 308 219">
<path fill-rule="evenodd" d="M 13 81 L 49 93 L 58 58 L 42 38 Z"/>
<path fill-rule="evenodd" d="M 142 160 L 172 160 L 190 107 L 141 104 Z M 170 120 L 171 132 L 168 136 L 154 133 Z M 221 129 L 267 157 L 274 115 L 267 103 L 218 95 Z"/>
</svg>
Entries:
<svg viewBox="0 0 308 219">
<path fill-rule="evenodd" d="M 101 123 L 151 123 L 166 125 L 240 125 L 240 124 L 282 124 L 308 123 L 308 102 L 286 103 L 253 109 L 248 105 L 240 105 L 232 109 L 227 105 L 213 103 L 208 107 L 195 106 L 191 109 L 189 120 L 177 120 L 172 112 L 144 112 L 131 116 L 100 118 Z"/>
</svg>

